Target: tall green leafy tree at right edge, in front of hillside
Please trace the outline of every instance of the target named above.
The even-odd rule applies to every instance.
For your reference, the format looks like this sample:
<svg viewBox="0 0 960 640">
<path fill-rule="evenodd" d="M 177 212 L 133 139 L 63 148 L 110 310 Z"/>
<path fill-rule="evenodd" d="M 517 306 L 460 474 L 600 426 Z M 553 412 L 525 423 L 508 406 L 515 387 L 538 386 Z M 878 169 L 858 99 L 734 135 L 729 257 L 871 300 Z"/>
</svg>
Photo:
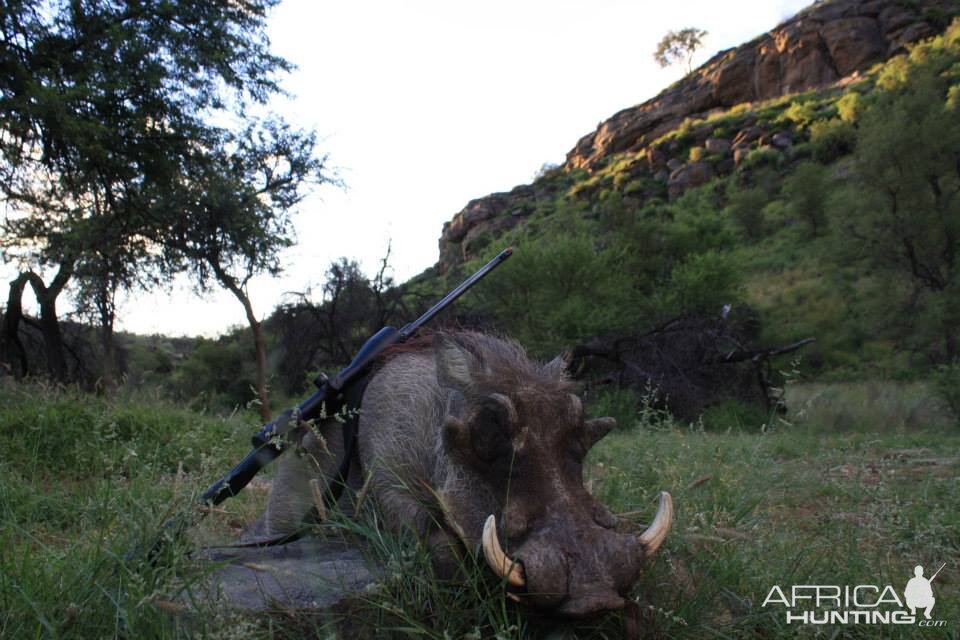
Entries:
<svg viewBox="0 0 960 640">
<path fill-rule="evenodd" d="M 860 121 L 858 183 L 848 199 L 849 227 L 868 264 L 890 291 L 902 281 L 914 285 L 905 301 L 924 310 L 917 326 L 936 336 L 941 362 L 960 355 L 960 118 L 946 103 L 960 78 L 944 73 L 958 64 L 960 24 L 882 74 Z"/>
</svg>

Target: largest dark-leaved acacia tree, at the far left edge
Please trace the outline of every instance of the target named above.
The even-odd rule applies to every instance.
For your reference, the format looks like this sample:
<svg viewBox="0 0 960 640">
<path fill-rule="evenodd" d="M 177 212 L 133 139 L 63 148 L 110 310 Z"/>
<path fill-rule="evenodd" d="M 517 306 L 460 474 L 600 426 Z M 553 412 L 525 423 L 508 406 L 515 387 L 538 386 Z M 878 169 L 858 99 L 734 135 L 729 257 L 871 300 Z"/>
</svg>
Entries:
<svg viewBox="0 0 960 640">
<path fill-rule="evenodd" d="M 210 116 L 242 117 L 279 91 L 291 66 L 269 53 L 275 4 L 0 0 L 2 249 L 37 296 L 55 378 L 66 376 L 56 302 L 68 283 L 84 282 L 112 344 L 116 291 L 173 274 L 158 247 L 179 213 L 158 204 L 185 190 L 196 149 L 223 137 Z M 20 308 L 17 297 L 7 315 Z"/>
</svg>

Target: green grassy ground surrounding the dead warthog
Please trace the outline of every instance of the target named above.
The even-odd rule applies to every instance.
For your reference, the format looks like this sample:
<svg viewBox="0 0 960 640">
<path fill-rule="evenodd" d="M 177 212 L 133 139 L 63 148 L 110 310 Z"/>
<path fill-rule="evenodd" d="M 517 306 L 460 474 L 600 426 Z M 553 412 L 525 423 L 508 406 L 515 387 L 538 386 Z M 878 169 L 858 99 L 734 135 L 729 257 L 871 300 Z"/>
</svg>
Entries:
<svg viewBox="0 0 960 640">
<path fill-rule="evenodd" d="M 641 635 L 958 637 L 960 430 L 915 385 L 808 386 L 792 400 L 790 422 L 762 433 L 646 420 L 592 454 L 588 483 L 624 520 L 646 522 L 661 489 L 677 507 L 635 592 Z M 369 508 L 360 523 L 324 526 L 362 539 L 386 567 L 350 610 L 250 620 L 211 608 L 178 627 L 170 594 L 198 575 L 186 549 L 167 549 L 156 569 L 122 555 L 245 453 L 251 425 L 157 399 L 0 386 L 0 636 L 622 637 L 617 615 L 577 627 L 527 615 L 470 557 L 456 582 L 437 581 L 416 543 L 384 534 Z M 263 493 L 228 502 L 199 535 L 234 535 Z M 929 575 L 943 562 L 933 617 L 945 627 L 788 626 L 782 607 L 762 606 L 774 585 L 891 584 L 900 595 L 914 565 Z"/>
</svg>

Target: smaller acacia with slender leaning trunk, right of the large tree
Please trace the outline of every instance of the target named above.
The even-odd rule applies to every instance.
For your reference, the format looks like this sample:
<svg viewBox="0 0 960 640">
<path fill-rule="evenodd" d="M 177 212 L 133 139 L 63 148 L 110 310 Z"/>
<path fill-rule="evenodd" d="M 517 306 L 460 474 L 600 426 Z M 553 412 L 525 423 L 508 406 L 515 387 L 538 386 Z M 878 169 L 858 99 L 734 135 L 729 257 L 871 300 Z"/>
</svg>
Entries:
<svg viewBox="0 0 960 640">
<path fill-rule="evenodd" d="M 167 251 L 182 260 L 200 291 L 216 282 L 243 306 L 265 421 L 270 418 L 266 339 L 249 284 L 257 275 L 280 273 L 280 252 L 294 241 L 294 207 L 309 185 L 331 181 L 315 146 L 312 133 L 277 120 L 253 124 L 240 135 L 225 134 L 191 159 L 187 197 L 164 205 L 180 211 Z"/>
</svg>

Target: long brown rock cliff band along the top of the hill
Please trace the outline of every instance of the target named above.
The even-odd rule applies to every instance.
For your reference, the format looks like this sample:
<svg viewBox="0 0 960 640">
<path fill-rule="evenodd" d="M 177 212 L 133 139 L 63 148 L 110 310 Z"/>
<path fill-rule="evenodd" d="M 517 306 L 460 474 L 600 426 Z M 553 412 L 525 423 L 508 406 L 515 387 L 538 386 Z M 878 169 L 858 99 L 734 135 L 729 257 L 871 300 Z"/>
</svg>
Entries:
<svg viewBox="0 0 960 640">
<path fill-rule="evenodd" d="M 567 166 L 595 167 L 611 153 L 641 148 L 693 114 L 824 86 L 863 71 L 931 35 L 924 12 L 955 6 L 955 0 L 818 2 L 769 33 L 721 51 L 652 100 L 614 114 L 577 142 Z"/>
</svg>

